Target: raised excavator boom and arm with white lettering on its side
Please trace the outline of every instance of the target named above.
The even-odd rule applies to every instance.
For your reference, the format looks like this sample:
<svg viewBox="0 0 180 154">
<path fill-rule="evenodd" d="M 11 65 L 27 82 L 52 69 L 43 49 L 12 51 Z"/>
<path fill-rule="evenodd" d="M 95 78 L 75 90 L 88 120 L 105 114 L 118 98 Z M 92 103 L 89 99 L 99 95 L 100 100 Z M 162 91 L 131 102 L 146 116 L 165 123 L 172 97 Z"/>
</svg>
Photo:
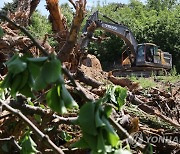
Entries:
<svg viewBox="0 0 180 154">
<path fill-rule="evenodd" d="M 99 12 L 94 12 L 86 21 L 86 24 L 83 28 L 83 39 L 81 43 L 81 49 L 84 50 L 89 42 L 93 40 L 93 33 L 97 28 L 101 28 L 107 32 L 113 33 L 119 36 L 127 46 L 127 55 L 131 60 L 130 54 L 133 54 L 136 57 L 136 50 L 137 50 L 137 41 L 133 36 L 132 32 L 124 25 L 118 24 L 117 22 L 113 21 L 109 17 L 102 15 L 104 18 L 107 18 L 112 23 L 103 22 L 99 19 Z M 131 60 L 131 64 L 133 61 Z"/>
</svg>

